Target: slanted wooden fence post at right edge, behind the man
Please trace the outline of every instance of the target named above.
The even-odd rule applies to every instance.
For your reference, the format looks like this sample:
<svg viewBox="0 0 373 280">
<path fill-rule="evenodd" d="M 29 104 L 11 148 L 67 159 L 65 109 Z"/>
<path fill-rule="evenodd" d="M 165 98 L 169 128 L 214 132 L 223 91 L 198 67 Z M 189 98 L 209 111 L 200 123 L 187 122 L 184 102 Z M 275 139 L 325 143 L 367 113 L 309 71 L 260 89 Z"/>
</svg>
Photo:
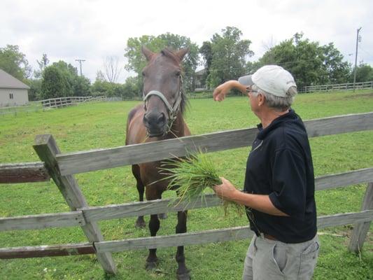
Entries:
<svg viewBox="0 0 373 280">
<path fill-rule="evenodd" d="M 373 183 L 368 183 L 367 185 L 367 190 L 365 191 L 361 209 L 363 211 L 373 209 Z M 371 222 L 359 223 L 355 226 L 355 228 L 353 228 L 349 244 L 350 251 L 355 253 L 361 251 L 361 248 L 363 248 L 365 237 L 367 237 L 367 232 L 370 228 L 370 223 Z"/>
</svg>

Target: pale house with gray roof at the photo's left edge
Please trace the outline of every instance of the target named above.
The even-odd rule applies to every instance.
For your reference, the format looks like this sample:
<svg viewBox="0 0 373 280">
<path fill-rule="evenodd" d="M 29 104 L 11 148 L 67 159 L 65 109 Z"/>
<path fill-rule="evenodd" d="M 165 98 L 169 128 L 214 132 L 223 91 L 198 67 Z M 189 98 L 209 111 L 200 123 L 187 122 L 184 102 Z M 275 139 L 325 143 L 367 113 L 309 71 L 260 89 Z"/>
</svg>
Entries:
<svg viewBox="0 0 373 280">
<path fill-rule="evenodd" d="M 0 107 L 29 102 L 29 86 L 0 69 Z"/>
</svg>

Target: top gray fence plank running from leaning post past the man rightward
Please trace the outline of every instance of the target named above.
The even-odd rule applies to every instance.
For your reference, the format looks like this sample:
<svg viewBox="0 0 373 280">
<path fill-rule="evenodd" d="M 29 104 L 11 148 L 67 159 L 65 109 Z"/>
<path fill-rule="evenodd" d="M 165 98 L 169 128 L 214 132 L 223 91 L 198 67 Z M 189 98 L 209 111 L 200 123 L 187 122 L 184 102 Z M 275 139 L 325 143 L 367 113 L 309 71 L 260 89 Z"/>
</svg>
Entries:
<svg viewBox="0 0 373 280">
<path fill-rule="evenodd" d="M 308 120 L 304 124 L 309 137 L 373 130 L 373 112 Z M 256 128 L 230 130 L 118 148 L 64 153 L 57 155 L 57 163 L 62 175 L 90 172 L 181 157 L 198 149 L 213 152 L 250 146 L 257 132 Z"/>
</svg>

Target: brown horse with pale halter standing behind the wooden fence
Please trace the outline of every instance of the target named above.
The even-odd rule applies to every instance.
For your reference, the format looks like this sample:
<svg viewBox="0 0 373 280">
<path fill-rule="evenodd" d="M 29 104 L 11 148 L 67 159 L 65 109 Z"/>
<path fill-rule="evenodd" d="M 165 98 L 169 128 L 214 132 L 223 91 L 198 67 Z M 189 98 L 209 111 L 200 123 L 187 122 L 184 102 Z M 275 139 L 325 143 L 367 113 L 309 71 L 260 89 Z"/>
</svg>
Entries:
<svg viewBox="0 0 373 280">
<path fill-rule="evenodd" d="M 147 143 L 190 135 L 190 130 L 183 119 L 185 95 L 181 77 L 181 61 L 188 48 L 178 51 L 164 49 L 154 53 L 147 48 L 141 49 L 148 60 L 143 69 L 144 104 L 136 106 L 129 112 L 127 120 L 126 145 Z M 146 200 L 162 198 L 167 189 L 167 182 L 159 173 L 160 162 L 148 162 L 132 165 L 132 173 L 136 178 L 139 200 L 143 201 L 145 188 Z M 162 216 L 160 215 L 160 218 Z M 187 231 L 187 211 L 178 212 L 176 233 Z M 145 227 L 143 216 L 139 216 L 136 227 Z M 150 235 L 154 237 L 160 228 L 158 215 L 150 215 Z M 154 269 L 157 265 L 157 249 L 150 249 L 146 259 L 146 269 Z M 176 251 L 178 262 L 177 278 L 190 279 L 189 270 L 185 266 L 184 247 L 178 246 Z"/>
</svg>

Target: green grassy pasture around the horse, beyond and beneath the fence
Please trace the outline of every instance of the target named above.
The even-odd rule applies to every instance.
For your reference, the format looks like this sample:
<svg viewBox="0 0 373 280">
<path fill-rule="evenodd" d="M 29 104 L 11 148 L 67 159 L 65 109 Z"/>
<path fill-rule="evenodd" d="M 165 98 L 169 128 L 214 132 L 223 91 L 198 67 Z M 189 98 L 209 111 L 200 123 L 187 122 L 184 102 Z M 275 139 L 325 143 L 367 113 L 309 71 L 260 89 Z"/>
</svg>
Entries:
<svg viewBox="0 0 373 280">
<path fill-rule="evenodd" d="M 61 151 L 111 148 L 125 143 L 125 123 L 129 110 L 139 102 L 107 102 L 17 116 L 0 116 L 0 162 L 38 161 L 32 144 L 36 134 L 50 133 Z M 295 111 L 304 120 L 373 111 L 373 92 L 301 94 Z M 225 102 L 211 99 L 190 100 L 186 120 L 192 134 L 253 127 L 258 123 L 245 97 Z M 310 139 L 315 174 L 332 174 L 373 167 L 373 132 L 356 132 Z M 222 176 L 242 186 L 250 147 L 219 153 L 211 158 Z M 90 206 L 137 201 L 130 167 L 89 172 L 76 176 Z M 360 211 L 366 185 L 349 186 L 316 193 L 318 216 Z M 173 192 L 164 198 L 174 197 Z M 0 185 L 0 216 L 20 216 L 69 211 L 52 182 Z M 148 229 L 135 229 L 136 218 L 100 222 L 106 240 L 148 237 Z M 148 217 L 146 217 L 148 221 Z M 218 208 L 189 211 L 188 231 L 247 225 L 245 217 L 223 216 Z M 173 234 L 176 215 L 161 221 L 158 235 Z M 314 279 L 373 279 L 373 225 L 360 255 L 347 250 L 351 225 L 321 230 L 321 252 Z M 37 246 L 85 242 L 80 228 L 0 232 L 0 247 Z M 193 279 L 241 279 L 250 240 L 229 241 L 185 248 L 186 263 Z M 0 260 L 0 279 L 175 279 L 176 248 L 157 251 L 160 264 L 147 272 L 148 251 L 113 253 L 118 274 L 106 276 L 94 255 L 57 258 Z"/>
</svg>

